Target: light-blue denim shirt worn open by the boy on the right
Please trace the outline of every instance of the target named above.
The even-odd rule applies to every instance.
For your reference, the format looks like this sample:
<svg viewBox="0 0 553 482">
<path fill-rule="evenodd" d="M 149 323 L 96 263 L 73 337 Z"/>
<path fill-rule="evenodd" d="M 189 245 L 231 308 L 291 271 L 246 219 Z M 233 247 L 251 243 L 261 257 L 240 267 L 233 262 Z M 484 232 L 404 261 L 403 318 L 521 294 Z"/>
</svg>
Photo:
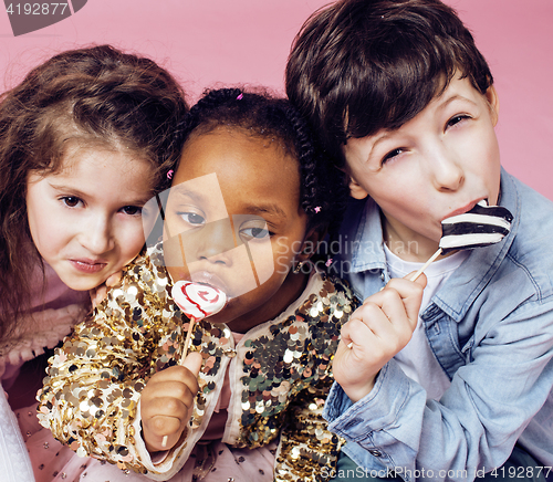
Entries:
<svg viewBox="0 0 553 482">
<path fill-rule="evenodd" d="M 332 387 L 323 415 L 372 475 L 466 482 L 501 467 L 515 443 L 553 465 L 553 203 L 504 170 L 500 203 L 511 232 L 472 250 L 421 314 L 451 379 L 442 398 L 427 400 L 394 359 L 356 404 Z M 357 203 L 344 226 L 334 266 L 365 298 L 389 280 L 379 210 Z"/>
</svg>

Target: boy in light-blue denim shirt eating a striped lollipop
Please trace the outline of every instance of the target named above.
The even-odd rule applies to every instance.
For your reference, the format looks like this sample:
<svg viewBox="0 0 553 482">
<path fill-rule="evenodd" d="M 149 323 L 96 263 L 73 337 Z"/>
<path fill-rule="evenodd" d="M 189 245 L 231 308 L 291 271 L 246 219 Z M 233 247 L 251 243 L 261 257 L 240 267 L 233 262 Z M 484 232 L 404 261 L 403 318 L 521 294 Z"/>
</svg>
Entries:
<svg viewBox="0 0 553 482">
<path fill-rule="evenodd" d="M 344 326 L 325 416 L 366 479 L 553 479 L 553 205 L 501 168 L 492 84 L 438 0 L 338 1 L 289 59 L 290 99 L 365 199 L 334 264 L 359 297 L 430 258 L 445 218 L 481 201 L 514 217 L 502 242 L 427 269 L 404 349 L 385 303 Z"/>
</svg>

